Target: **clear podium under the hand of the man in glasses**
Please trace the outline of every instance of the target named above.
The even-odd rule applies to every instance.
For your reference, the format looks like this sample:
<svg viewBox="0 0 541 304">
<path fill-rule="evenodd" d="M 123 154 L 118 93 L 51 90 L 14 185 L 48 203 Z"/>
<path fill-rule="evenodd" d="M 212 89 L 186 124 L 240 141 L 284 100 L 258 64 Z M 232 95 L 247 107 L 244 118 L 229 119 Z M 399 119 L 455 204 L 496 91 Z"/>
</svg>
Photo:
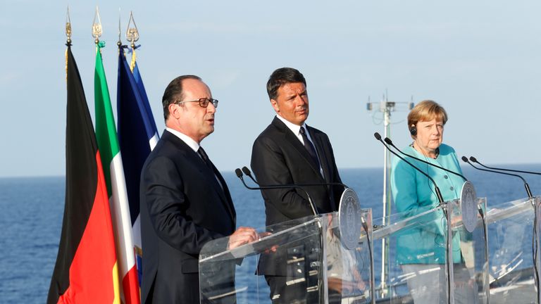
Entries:
<svg viewBox="0 0 541 304">
<path fill-rule="evenodd" d="M 266 227 L 261 239 L 233 249 L 228 238 L 207 243 L 201 303 L 272 303 L 267 280 L 280 282 L 273 283 L 279 303 L 371 303 L 371 210 L 361 214 L 366 224 L 351 249 L 337 213 Z"/>
</svg>

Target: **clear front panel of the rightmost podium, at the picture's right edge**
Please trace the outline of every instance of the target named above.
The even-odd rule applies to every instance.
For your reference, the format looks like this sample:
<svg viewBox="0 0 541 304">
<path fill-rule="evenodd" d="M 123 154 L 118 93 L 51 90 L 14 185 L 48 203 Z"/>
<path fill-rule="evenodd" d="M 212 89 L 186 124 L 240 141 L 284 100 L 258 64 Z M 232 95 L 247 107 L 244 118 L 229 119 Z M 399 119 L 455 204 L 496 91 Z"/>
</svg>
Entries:
<svg viewBox="0 0 541 304">
<path fill-rule="evenodd" d="M 539 303 L 535 212 L 540 201 L 523 198 L 493 205 L 487 212 L 490 303 Z"/>
</svg>

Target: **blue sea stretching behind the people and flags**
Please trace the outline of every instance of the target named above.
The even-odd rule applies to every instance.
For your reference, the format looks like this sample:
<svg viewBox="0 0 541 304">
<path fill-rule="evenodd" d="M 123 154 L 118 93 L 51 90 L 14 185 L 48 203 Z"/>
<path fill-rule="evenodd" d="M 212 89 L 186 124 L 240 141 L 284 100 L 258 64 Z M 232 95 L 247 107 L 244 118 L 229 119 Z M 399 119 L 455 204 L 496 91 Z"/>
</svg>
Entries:
<svg viewBox="0 0 541 304">
<path fill-rule="evenodd" d="M 541 164 L 491 165 L 541 172 Z M 521 179 L 463 167 L 487 205 L 526 198 Z M 374 222 L 383 215 L 383 168 L 340 170 Z M 263 229 L 259 191 L 246 189 L 234 172 L 223 172 L 237 210 L 237 226 Z M 541 176 L 523 175 L 533 195 L 541 195 Z M 64 209 L 65 177 L 0 178 L 0 303 L 45 303 L 58 253 Z M 380 263 L 375 256 L 375 263 Z M 376 273 L 378 270 L 376 270 Z"/>
</svg>

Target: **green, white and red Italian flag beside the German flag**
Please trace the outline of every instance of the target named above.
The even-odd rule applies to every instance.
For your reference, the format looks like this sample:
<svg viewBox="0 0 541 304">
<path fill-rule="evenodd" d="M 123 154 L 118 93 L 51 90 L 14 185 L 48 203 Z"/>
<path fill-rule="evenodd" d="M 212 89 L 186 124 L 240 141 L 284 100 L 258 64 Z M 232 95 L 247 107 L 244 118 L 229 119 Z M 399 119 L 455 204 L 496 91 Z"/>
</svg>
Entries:
<svg viewBox="0 0 541 304">
<path fill-rule="evenodd" d="M 135 304 L 139 303 L 140 300 L 130 206 L 113 108 L 111 107 L 104 65 L 101 59 L 101 48 L 104 46 L 104 42 L 99 42 L 96 49 L 96 70 L 94 72 L 96 138 L 101 151 L 101 165 L 104 169 L 107 193 L 109 194 L 109 203 L 113 215 L 113 225 L 116 232 L 116 250 L 123 289 L 121 297 L 124 303 Z"/>
</svg>

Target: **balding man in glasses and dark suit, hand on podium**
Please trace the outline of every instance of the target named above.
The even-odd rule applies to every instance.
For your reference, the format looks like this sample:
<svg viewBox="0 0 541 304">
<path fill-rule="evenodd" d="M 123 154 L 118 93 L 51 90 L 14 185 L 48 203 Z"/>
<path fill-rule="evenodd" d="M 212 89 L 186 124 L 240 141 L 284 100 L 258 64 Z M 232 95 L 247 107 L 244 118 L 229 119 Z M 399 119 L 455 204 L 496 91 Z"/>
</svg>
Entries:
<svg viewBox="0 0 541 304">
<path fill-rule="evenodd" d="M 204 244 L 230 236 L 235 248 L 258 236 L 235 230 L 228 185 L 199 146 L 214 131 L 218 101 L 209 87 L 194 75 L 177 77 L 162 103 L 166 131 L 141 175 L 142 303 L 199 303 Z"/>
</svg>

